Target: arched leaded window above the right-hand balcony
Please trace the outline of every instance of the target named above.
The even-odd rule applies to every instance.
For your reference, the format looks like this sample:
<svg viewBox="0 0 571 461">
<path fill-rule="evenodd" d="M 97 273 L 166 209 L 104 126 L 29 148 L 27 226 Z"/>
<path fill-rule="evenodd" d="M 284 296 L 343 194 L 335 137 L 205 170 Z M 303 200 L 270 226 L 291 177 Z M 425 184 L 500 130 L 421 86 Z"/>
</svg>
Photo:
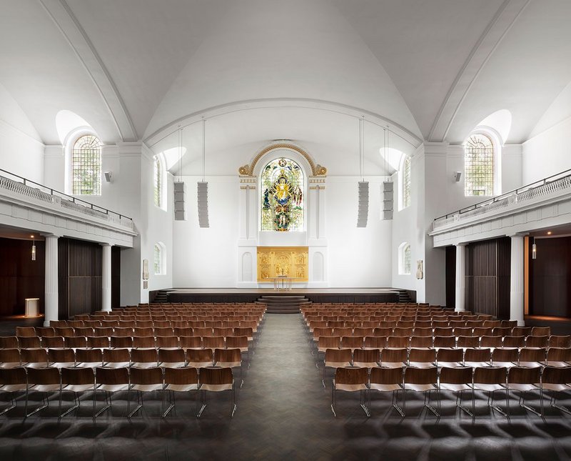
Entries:
<svg viewBox="0 0 571 461">
<path fill-rule="evenodd" d="M 494 194 L 494 145 L 484 134 L 473 134 L 464 148 L 464 194 Z"/>
</svg>

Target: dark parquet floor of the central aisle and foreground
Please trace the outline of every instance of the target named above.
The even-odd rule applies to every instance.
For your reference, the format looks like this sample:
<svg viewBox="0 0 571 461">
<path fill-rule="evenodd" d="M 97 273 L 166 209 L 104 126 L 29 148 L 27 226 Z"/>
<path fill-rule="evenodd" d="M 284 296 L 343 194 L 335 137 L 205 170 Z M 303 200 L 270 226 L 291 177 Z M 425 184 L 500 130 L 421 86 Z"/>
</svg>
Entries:
<svg viewBox="0 0 571 461">
<path fill-rule="evenodd" d="M 23 419 L 24 402 L 0 417 L 0 460 L 557 460 L 571 457 L 571 417 L 546 406 L 541 419 L 510 399 L 512 417 L 492 412 L 477 396 L 475 422 L 442 398 L 442 417 L 423 410 L 410 395 L 407 417 L 391 410 L 390 395 L 373 395 L 372 417 L 358 396 L 338 398 L 337 418 L 328 387 L 310 355 L 300 315 L 267 314 L 238 409 L 229 395 L 212 395 L 200 419 L 194 396 L 176 401 L 176 414 L 160 417 L 161 396 L 145 397 L 143 412 L 127 420 L 126 393 L 116 395 L 112 415 L 91 420 L 91 393 L 81 408 L 57 419 L 57 399 Z M 39 396 L 34 397 L 39 403 Z M 64 407 L 71 405 L 65 397 Z M 134 402 L 134 396 L 133 396 Z M 505 405 L 505 401 L 498 401 Z M 3 404 L 5 402 L 2 402 Z M 538 405 L 530 396 L 530 403 Z M 569 400 L 563 402 L 571 404 Z M 98 407 L 103 405 L 103 398 Z"/>
</svg>

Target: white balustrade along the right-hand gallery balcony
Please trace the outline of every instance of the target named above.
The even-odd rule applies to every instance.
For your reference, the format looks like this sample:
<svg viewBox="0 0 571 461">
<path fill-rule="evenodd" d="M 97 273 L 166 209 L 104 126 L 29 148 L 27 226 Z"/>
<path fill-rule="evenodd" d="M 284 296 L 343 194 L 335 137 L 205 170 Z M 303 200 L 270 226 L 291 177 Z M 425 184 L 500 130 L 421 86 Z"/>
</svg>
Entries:
<svg viewBox="0 0 571 461">
<path fill-rule="evenodd" d="M 526 204 L 537 199 L 547 199 L 564 193 L 571 193 L 571 170 L 567 170 L 541 181 L 528 184 L 520 189 L 502 194 L 493 199 L 485 200 L 471 207 L 459 209 L 456 212 L 436 218 L 433 222 L 433 230 L 458 224 L 465 220 L 473 220 L 474 217 L 485 217 L 487 214 L 509 209 L 525 207 Z"/>
</svg>

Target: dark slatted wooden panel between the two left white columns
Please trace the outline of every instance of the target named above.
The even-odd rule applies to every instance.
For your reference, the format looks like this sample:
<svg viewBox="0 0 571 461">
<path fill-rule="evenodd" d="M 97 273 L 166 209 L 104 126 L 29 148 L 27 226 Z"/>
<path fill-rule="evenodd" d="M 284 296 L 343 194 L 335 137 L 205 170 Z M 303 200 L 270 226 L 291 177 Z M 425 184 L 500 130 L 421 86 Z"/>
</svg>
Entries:
<svg viewBox="0 0 571 461">
<path fill-rule="evenodd" d="M 60 238 L 59 318 L 90 314 L 101 309 L 101 245 Z"/>
</svg>

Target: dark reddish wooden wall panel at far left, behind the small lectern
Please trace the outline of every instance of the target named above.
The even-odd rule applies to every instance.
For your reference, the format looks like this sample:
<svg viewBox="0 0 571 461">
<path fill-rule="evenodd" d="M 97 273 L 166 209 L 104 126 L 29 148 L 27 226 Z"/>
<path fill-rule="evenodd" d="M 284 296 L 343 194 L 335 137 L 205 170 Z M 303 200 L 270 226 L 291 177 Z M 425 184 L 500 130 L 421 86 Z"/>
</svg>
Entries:
<svg viewBox="0 0 571 461">
<path fill-rule="evenodd" d="M 39 298 L 44 312 L 45 244 L 36 242 L 36 261 L 31 260 L 31 245 L 0 238 L 0 315 L 24 314 L 26 298 Z"/>
</svg>

